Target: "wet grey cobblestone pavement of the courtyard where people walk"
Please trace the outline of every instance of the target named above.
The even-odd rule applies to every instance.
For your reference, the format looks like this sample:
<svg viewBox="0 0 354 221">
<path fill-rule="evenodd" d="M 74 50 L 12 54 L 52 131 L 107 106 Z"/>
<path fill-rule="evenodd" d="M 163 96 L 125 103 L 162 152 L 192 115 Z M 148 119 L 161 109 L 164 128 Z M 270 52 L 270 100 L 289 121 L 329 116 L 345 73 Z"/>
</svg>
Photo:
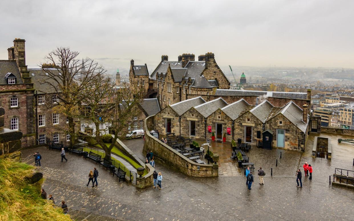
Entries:
<svg viewBox="0 0 354 221">
<path fill-rule="evenodd" d="M 142 139 L 123 142 L 144 159 Z M 64 199 L 73 209 L 97 216 L 118 220 L 171 221 L 350 221 L 354 216 L 354 191 L 332 187 L 328 183 L 328 175 L 333 173 L 333 166 L 337 164 L 333 160 L 329 165 L 327 161 L 315 159 L 314 179 L 303 179 L 302 189 L 296 187 L 295 168 L 304 160 L 312 159 L 289 152 L 281 159 L 284 168 L 273 170 L 276 174 L 273 177 L 266 170 L 263 186 L 255 177 L 251 191 L 247 190 L 243 176 L 191 178 L 159 164 L 155 168 L 164 177 L 162 190 L 140 190 L 129 183 L 118 182 L 116 176 L 112 177 L 102 167 L 98 168 L 98 187 L 86 187 L 89 170 L 98 165 L 74 154 L 68 155 L 68 162 L 60 162 L 59 151 L 48 150 L 47 147 L 22 151 L 24 161 L 29 156 L 27 161 L 33 163 L 30 154 L 37 150 L 42 155 L 39 170 L 46 178 L 43 187 L 47 194 L 53 194 L 58 203 Z M 259 163 L 269 168 L 274 160 L 267 160 L 267 156 L 276 157 L 276 151 L 252 147 L 249 155 L 251 161 L 257 162 L 256 166 Z M 292 166 L 289 171 L 285 169 L 287 164 Z M 278 174 L 280 172 L 284 174 Z"/>
</svg>

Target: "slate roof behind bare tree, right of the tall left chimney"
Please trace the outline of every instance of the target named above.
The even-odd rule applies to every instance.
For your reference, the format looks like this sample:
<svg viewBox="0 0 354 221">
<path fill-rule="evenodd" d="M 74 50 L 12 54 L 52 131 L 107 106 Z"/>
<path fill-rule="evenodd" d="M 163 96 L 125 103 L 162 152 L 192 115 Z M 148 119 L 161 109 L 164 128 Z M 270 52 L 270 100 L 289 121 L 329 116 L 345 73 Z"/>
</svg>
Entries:
<svg viewBox="0 0 354 221">
<path fill-rule="evenodd" d="M 53 85 L 58 85 L 58 83 L 49 76 L 46 78 L 45 71 L 40 68 L 32 68 L 28 69 L 28 71 L 29 76 L 32 77 L 33 87 L 37 90 L 38 94 L 56 93 L 53 86 L 46 83 L 46 81 L 52 83 Z M 59 75 L 59 71 L 56 68 L 51 68 L 50 71 L 52 73 L 57 72 Z"/>
</svg>

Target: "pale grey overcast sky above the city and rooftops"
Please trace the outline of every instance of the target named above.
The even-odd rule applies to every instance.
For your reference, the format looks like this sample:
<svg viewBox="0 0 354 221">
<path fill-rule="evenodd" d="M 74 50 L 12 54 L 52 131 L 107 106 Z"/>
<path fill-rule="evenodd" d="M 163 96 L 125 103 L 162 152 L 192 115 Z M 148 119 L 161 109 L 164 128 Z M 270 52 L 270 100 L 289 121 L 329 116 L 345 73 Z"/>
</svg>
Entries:
<svg viewBox="0 0 354 221">
<path fill-rule="evenodd" d="M 1 1 L 0 59 L 15 37 L 36 67 L 70 47 L 108 70 L 215 53 L 219 65 L 354 67 L 354 1 Z"/>
</svg>

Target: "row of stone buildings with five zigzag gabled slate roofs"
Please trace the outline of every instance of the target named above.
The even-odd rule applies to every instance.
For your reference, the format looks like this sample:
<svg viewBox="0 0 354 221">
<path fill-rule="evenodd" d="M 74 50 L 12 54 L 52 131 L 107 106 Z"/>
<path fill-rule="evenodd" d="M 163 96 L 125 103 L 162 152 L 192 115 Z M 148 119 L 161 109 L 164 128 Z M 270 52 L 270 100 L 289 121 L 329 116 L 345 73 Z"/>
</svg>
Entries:
<svg viewBox="0 0 354 221">
<path fill-rule="evenodd" d="M 228 104 L 221 97 L 205 101 L 200 96 L 168 105 L 154 116 L 155 129 L 162 136 L 175 133 L 211 139 L 214 132 L 218 140 L 223 136 L 226 141 L 241 139 L 249 144 L 262 140 L 270 146 L 292 150 L 304 149 L 309 122 L 306 104 L 299 107 L 289 101 L 284 106 L 274 106 L 264 100 L 251 105 L 244 99 Z M 264 132 L 267 137 L 263 137 Z"/>
</svg>

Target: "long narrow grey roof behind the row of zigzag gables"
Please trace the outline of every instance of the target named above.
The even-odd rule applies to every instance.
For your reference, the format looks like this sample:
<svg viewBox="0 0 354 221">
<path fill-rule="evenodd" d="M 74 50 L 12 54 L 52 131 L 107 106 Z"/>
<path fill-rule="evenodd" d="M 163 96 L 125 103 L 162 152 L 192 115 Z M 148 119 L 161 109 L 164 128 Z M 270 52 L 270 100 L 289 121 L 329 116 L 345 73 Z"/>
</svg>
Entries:
<svg viewBox="0 0 354 221">
<path fill-rule="evenodd" d="M 215 95 L 254 95 L 276 98 L 290 98 L 290 99 L 307 99 L 307 93 L 298 92 L 276 92 L 276 91 L 247 91 L 247 90 L 230 90 L 217 89 Z"/>
</svg>

